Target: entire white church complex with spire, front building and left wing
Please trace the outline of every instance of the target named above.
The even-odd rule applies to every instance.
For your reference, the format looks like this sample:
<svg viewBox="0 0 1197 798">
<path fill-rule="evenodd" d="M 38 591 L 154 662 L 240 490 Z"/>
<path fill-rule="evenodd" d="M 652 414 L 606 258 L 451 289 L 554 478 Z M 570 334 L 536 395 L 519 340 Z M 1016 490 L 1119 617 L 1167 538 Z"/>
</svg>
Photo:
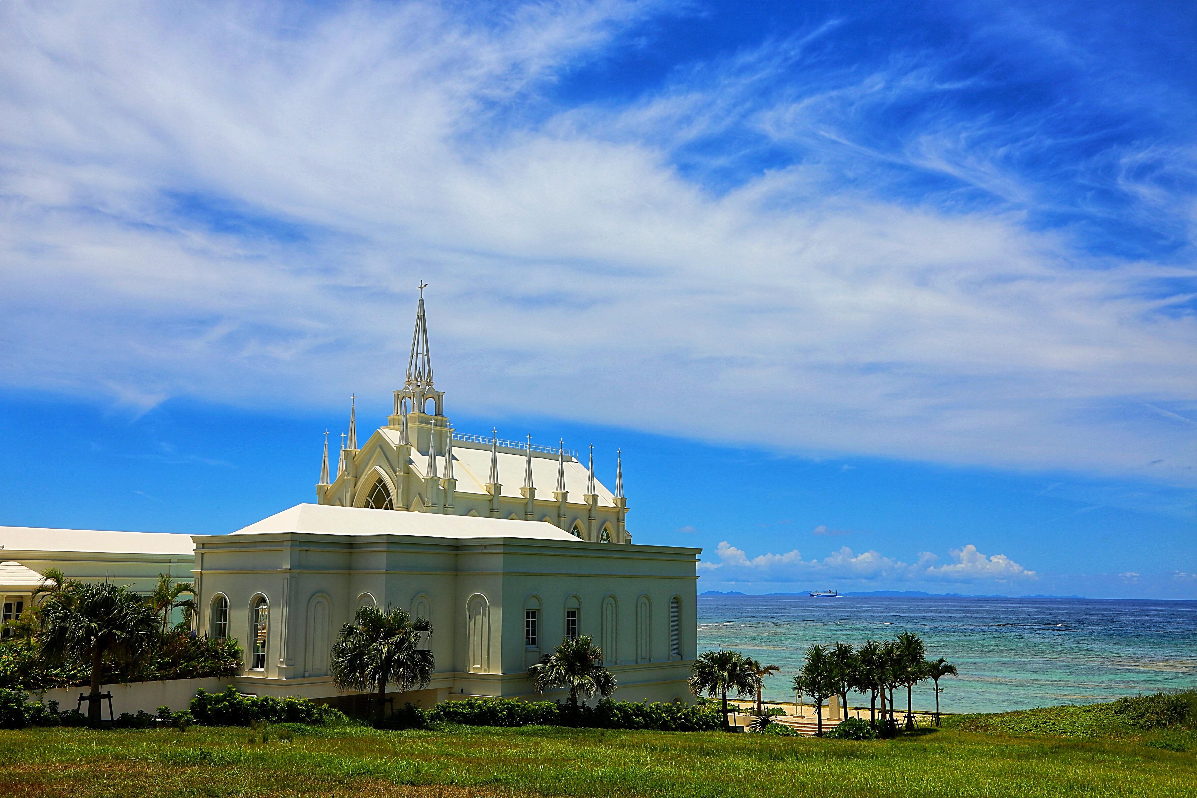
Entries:
<svg viewBox="0 0 1197 798">
<path fill-rule="evenodd" d="M 432 683 L 399 702 L 531 699 L 528 666 L 577 635 L 602 648 L 616 700 L 692 700 L 700 549 L 632 544 L 619 461 L 612 493 L 594 476 L 593 451 L 584 465 L 560 445 L 454 430 L 432 382 L 423 291 L 388 425 L 359 447 L 351 407 L 332 479 L 329 465 L 326 437 L 317 504 L 232 534 L 0 526 L 5 615 L 29 605 L 47 567 L 145 591 L 171 573 L 195 583 L 198 632 L 243 647 L 233 683 L 247 693 L 351 703 L 333 686 L 329 652 L 369 604 L 433 629 Z M 537 498 L 537 485 L 553 489 Z"/>
</svg>

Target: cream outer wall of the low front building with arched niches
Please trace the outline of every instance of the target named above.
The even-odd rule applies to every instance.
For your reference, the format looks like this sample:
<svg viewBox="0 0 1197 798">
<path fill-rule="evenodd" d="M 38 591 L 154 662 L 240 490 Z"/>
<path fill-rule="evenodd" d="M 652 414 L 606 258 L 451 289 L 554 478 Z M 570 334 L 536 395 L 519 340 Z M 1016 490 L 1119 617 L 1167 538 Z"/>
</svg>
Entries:
<svg viewBox="0 0 1197 798">
<path fill-rule="evenodd" d="M 688 700 L 685 680 L 695 657 L 695 565 L 698 549 L 612 546 L 525 538 L 436 538 L 403 535 L 263 532 L 196 536 L 199 628 L 211 628 L 212 599 L 229 598 L 229 633 L 250 663 L 250 605 L 259 593 L 271 604 L 265 671 L 236 680 L 247 692 L 335 698 L 327 674 L 312 674 L 309 610 L 314 598 L 329 604 L 324 639 L 335 639 L 369 593 L 384 610 L 412 611 L 424 597 L 431 609 L 430 647 L 436 675 L 427 702 L 449 696 L 533 698 L 527 668 L 560 642 L 565 603 L 581 603 L 579 633 L 603 638 L 601 607 L 613 597 L 618 611 L 616 699 Z M 486 648 L 470 668 L 469 602 L 485 597 Z M 524 647 L 524 608 L 540 602 L 540 647 Z M 648 662 L 637 662 L 637 613 L 650 604 Z M 680 659 L 669 657 L 669 602 L 680 599 Z M 318 658 L 318 654 L 316 654 Z M 326 656 L 327 660 L 327 656 Z M 546 698 L 561 698 L 547 695 Z"/>
</svg>

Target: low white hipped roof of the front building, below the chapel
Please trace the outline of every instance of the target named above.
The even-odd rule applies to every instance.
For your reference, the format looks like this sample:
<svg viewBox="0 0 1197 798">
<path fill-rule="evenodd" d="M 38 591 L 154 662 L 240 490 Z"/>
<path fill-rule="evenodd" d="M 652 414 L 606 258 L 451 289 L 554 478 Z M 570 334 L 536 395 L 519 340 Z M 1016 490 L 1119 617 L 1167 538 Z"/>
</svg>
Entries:
<svg viewBox="0 0 1197 798">
<path fill-rule="evenodd" d="M 260 532 L 323 532 L 326 535 L 412 535 L 419 537 L 522 537 L 537 541 L 578 538 L 542 520 L 505 520 L 475 516 L 369 510 L 302 504 L 238 529 L 233 535 Z"/>
</svg>

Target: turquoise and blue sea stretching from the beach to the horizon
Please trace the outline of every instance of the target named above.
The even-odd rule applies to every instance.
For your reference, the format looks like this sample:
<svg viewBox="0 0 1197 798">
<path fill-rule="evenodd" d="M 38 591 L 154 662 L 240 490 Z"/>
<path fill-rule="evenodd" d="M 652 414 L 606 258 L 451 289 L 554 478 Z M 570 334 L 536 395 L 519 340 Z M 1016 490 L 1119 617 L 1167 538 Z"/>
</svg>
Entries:
<svg viewBox="0 0 1197 798">
<path fill-rule="evenodd" d="M 1003 712 L 1093 703 L 1160 689 L 1197 688 L 1197 602 L 1063 598 L 703 596 L 698 650 L 730 647 L 782 666 L 765 698 L 792 701 L 790 680 L 815 642 L 859 645 L 903 629 L 929 659 L 960 677 L 941 681 L 944 712 Z M 867 696 L 850 696 L 853 705 Z M 915 707 L 934 708 L 930 683 Z"/>
</svg>

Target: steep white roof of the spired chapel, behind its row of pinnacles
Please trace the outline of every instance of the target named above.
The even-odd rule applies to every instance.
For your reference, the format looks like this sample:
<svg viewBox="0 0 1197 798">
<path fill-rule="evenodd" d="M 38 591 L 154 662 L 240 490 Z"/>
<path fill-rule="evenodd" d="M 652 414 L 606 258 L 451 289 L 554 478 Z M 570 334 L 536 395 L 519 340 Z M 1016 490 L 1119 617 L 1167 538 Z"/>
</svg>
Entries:
<svg viewBox="0 0 1197 798">
<path fill-rule="evenodd" d="M 399 430 L 381 427 L 378 432 L 391 444 L 399 445 Z M 499 461 L 499 483 L 503 486 L 500 495 L 522 499 L 519 488 L 523 486 L 527 455 L 523 452 L 516 453 L 510 449 L 504 450 L 502 447 L 496 453 Z M 454 440 L 452 459 L 452 475 L 457 480 L 458 491 L 464 493 L 487 492 L 486 481 L 491 475 L 491 447 L 488 445 Z M 427 455 L 413 452 L 411 461 L 412 470 L 420 479 L 424 479 L 424 469 L 427 463 Z M 444 473 L 445 458 L 443 455 L 437 455 L 437 474 L 444 476 Z M 531 476 L 533 485 L 536 486 L 536 495 L 541 498 L 552 497 L 553 491 L 557 489 L 557 455 L 534 451 L 531 453 Z M 585 465 L 572 457 L 566 457 L 565 489 L 570 492 L 570 501 L 582 501 L 582 497 L 587 492 L 588 476 L 589 471 Z M 597 479 L 595 480 L 595 494 L 598 497 L 601 506 L 615 506 L 614 494 Z"/>
</svg>

